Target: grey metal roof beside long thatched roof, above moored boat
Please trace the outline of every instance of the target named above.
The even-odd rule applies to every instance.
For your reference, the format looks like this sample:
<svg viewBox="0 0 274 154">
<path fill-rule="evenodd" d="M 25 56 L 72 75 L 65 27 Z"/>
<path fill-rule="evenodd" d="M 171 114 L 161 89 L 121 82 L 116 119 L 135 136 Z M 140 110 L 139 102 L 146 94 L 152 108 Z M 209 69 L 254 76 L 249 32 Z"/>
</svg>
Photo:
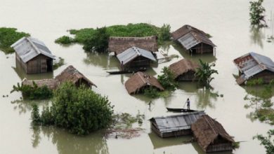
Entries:
<svg viewBox="0 0 274 154">
<path fill-rule="evenodd" d="M 139 56 L 148 58 L 148 59 L 156 62 L 155 57 L 152 55 L 152 53 L 150 51 L 142 49 L 142 48 L 138 48 L 135 46 L 126 49 L 122 53 L 119 53 L 117 55 L 117 58 L 119 59 L 120 63 L 123 62 L 124 64 L 127 64 L 128 62 L 131 62 L 131 60 L 133 60 Z"/>
</svg>

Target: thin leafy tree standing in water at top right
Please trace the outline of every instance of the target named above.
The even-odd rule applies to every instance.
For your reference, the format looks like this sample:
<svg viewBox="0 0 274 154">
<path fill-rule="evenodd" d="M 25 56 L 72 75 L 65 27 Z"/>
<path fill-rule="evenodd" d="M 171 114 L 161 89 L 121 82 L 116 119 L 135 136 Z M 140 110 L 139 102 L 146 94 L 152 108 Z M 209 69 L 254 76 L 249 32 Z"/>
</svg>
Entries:
<svg viewBox="0 0 274 154">
<path fill-rule="evenodd" d="M 262 6 L 263 0 L 249 1 L 249 3 L 249 21 L 251 25 L 263 26 L 261 22 L 266 22 L 264 20 L 265 15 L 263 15 L 266 11 L 266 9 Z"/>
</svg>

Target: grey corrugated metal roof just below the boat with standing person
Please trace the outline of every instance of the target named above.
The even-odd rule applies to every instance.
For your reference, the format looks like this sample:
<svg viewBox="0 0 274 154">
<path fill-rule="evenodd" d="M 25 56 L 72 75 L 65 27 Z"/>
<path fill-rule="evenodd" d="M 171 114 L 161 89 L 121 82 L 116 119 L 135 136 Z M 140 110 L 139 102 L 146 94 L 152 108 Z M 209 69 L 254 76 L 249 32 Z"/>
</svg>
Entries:
<svg viewBox="0 0 274 154">
<path fill-rule="evenodd" d="M 150 120 L 155 120 L 159 132 L 174 132 L 178 130 L 190 129 L 190 125 L 195 123 L 196 120 L 204 114 L 204 111 L 197 111 L 175 116 L 155 117 Z"/>
</svg>

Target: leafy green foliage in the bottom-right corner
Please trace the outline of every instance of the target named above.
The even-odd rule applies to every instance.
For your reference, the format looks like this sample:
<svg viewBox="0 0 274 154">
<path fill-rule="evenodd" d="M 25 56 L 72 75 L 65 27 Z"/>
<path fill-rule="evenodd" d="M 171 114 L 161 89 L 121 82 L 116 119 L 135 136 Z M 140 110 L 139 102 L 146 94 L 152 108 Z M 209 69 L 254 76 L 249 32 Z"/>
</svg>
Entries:
<svg viewBox="0 0 274 154">
<path fill-rule="evenodd" d="M 274 153 L 274 130 L 268 130 L 267 136 L 263 136 L 262 134 L 257 134 L 253 139 L 258 139 L 261 142 L 261 145 L 266 148 L 266 154 Z"/>
</svg>

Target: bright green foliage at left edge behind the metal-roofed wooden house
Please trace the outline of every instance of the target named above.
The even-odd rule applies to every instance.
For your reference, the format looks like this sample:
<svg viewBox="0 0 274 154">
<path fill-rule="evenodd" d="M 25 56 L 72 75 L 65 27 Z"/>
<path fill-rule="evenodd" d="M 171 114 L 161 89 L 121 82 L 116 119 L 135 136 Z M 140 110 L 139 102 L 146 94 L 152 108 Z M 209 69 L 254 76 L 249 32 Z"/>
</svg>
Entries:
<svg viewBox="0 0 274 154">
<path fill-rule="evenodd" d="M 30 36 L 30 34 L 18 32 L 15 28 L 0 27 L 0 50 L 6 54 L 13 53 L 11 45 L 24 36 Z"/>
</svg>

